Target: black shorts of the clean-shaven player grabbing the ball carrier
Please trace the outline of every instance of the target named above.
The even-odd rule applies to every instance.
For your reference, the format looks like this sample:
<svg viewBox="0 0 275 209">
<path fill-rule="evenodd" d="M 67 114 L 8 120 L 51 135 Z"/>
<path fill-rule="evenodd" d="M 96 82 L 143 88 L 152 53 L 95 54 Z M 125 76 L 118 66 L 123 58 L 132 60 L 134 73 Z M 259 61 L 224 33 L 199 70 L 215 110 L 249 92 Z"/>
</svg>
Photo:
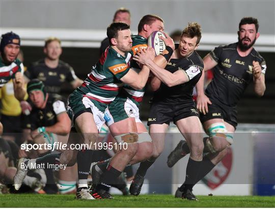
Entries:
<svg viewBox="0 0 275 209">
<path fill-rule="evenodd" d="M 174 124 L 186 117 L 197 116 L 199 113 L 195 107 L 195 103 L 165 103 L 165 102 L 153 102 L 150 108 L 147 125 L 151 124 L 170 124 L 171 121 Z"/>
</svg>

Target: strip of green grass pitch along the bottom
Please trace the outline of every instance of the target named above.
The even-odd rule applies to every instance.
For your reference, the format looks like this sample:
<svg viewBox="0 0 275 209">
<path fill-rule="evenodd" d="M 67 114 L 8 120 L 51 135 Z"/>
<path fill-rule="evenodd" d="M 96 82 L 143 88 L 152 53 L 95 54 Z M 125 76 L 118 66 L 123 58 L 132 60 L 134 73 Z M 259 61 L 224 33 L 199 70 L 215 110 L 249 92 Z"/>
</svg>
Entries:
<svg viewBox="0 0 275 209">
<path fill-rule="evenodd" d="M 172 195 L 114 195 L 114 199 L 76 200 L 74 195 L 3 194 L 0 207 L 274 207 L 275 196 L 198 196 L 199 201 Z"/>
</svg>

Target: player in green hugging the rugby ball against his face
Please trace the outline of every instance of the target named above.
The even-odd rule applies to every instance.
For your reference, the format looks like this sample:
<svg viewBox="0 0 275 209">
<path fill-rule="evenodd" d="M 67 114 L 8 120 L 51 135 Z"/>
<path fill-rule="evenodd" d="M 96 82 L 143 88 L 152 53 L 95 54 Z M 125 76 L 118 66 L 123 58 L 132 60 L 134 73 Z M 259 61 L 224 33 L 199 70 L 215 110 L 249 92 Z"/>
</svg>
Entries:
<svg viewBox="0 0 275 209">
<path fill-rule="evenodd" d="M 147 38 L 154 31 L 163 31 L 163 20 L 156 15 L 145 15 L 139 23 L 136 36 L 132 36 L 133 44 L 131 53 L 144 53 L 141 49 L 147 48 Z M 159 66 L 165 67 L 175 48 L 173 40 L 167 36 L 163 38 L 167 50 L 163 55 L 154 58 Z M 131 62 L 131 68 L 141 73 L 137 63 Z M 142 101 L 145 88 L 137 89 L 125 84 L 116 99 L 109 104 L 105 112 L 105 121 L 116 141 L 127 143 L 127 149 L 121 149 L 116 155 L 103 163 L 92 167 L 93 183 L 97 184 L 93 193 L 99 198 L 112 198 L 107 188 L 115 182 L 116 178 L 128 164 L 135 164 L 148 160 L 153 152 L 153 144 L 146 127 L 139 118 L 139 105 Z M 137 133 L 138 138 L 130 137 Z M 107 166 L 107 164 L 109 164 Z"/>
</svg>

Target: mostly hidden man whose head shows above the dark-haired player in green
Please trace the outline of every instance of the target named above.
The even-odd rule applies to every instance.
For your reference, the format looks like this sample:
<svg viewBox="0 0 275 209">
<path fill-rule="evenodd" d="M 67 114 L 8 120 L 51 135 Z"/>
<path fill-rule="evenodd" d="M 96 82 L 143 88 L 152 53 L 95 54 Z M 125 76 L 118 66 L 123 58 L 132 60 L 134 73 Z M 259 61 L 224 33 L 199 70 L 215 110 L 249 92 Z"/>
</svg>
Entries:
<svg viewBox="0 0 275 209">
<path fill-rule="evenodd" d="M 115 15 L 114 15 L 114 19 L 113 19 L 113 22 L 125 22 L 127 23 L 128 25 L 131 25 L 131 14 L 130 14 L 130 11 L 126 8 L 119 8 Z M 105 51 L 105 49 L 109 46 L 109 40 L 108 38 L 106 37 L 102 42 L 101 42 L 101 45 L 100 45 L 100 48 L 99 48 L 99 56 Z"/>
</svg>

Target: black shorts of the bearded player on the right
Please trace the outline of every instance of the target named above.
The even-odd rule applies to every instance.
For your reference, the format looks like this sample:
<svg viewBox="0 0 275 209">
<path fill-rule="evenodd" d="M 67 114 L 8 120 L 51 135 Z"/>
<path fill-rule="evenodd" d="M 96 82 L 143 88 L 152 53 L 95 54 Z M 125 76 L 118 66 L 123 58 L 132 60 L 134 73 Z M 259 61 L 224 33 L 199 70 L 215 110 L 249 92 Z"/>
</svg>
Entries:
<svg viewBox="0 0 275 209">
<path fill-rule="evenodd" d="M 208 105 L 208 113 L 206 113 L 205 115 L 200 113 L 201 122 L 204 123 L 213 118 L 221 118 L 226 123 L 232 125 L 236 130 L 236 127 L 238 125 L 236 108 L 223 105 L 213 99 L 210 100 L 212 104 Z"/>
</svg>

